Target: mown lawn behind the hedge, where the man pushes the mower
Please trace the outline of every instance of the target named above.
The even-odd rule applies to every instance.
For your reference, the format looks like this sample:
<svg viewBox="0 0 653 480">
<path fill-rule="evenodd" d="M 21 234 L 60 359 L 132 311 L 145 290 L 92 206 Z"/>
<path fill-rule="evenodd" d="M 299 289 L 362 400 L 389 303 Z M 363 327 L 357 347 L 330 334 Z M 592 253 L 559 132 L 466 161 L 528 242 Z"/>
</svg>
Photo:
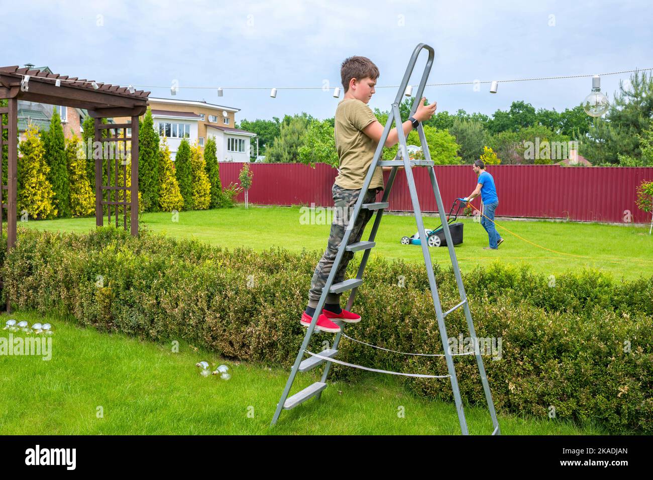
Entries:
<svg viewBox="0 0 653 480">
<path fill-rule="evenodd" d="M 270 246 L 281 246 L 293 250 L 306 248 L 323 251 L 327 246 L 330 217 L 319 225 L 303 224 L 302 217 L 310 218 L 298 206 L 250 206 L 245 209 L 238 205 L 230 209 L 180 212 L 176 222 L 172 221 L 172 214 L 149 213 L 143 215 L 142 224 L 154 232 L 177 238 L 195 237 L 226 248 L 249 246 L 261 251 Z M 498 231 L 505 242 L 498 250 L 483 250 L 482 247 L 487 245 L 483 227 L 472 219 L 463 221 L 464 243 L 456 247 L 463 272 L 471 270 L 476 264 L 486 265 L 498 259 L 505 263 L 525 262 L 545 274 L 591 267 L 629 280 L 641 275 L 653 275 L 653 237 L 644 227 L 498 219 Z M 95 228 L 95 218 L 28 221 L 21 225 L 36 229 L 87 232 Z M 424 217 L 424 225 L 427 229 L 434 229 L 439 225 L 439 219 Z M 513 236 L 502 226 L 522 238 Z M 368 224 L 364 239 L 368 238 L 371 229 L 372 221 Z M 399 242 L 402 236 L 411 236 L 416 231 L 414 217 L 385 215 L 372 255 L 423 262 L 421 247 L 402 246 Z M 523 239 L 568 255 L 539 248 Z M 450 264 L 446 248 L 431 248 L 430 251 L 434 262 Z"/>
</svg>

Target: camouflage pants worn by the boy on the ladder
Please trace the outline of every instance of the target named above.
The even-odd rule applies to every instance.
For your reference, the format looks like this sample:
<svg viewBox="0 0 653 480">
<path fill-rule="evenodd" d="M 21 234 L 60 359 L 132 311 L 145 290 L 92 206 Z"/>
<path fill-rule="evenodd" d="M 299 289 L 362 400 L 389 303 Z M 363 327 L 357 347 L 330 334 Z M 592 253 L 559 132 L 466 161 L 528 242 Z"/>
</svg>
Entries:
<svg viewBox="0 0 653 480">
<path fill-rule="evenodd" d="M 363 198 L 363 203 L 374 202 L 379 190 L 381 190 L 381 187 L 368 189 Z M 331 189 L 335 206 L 333 222 L 331 223 L 331 232 L 328 238 L 327 249 L 325 250 L 324 255 L 322 255 L 322 259 L 315 267 L 315 272 L 313 272 L 313 278 L 311 279 L 311 290 L 308 293 L 308 306 L 311 308 L 317 308 L 317 303 L 319 302 L 323 288 L 327 283 L 327 278 L 331 273 L 333 263 L 336 260 L 338 248 L 340 247 L 340 244 L 342 244 L 342 239 L 345 236 L 346 229 L 350 227 L 349 220 L 353 215 L 354 205 L 358 200 L 360 191 L 361 189 L 344 189 L 336 184 L 334 184 Z M 356 221 L 351 224 L 351 234 L 349 234 L 349 242 L 347 242 L 347 245 L 360 242 L 360 237 L 365 230 L 365 225 L 370 221 L 372 215 L 374 215 L 374 210 L 360 208 Z M 333 283 L 339 283 L 345 280 L 347 264 L 351 259 L 353 259 L 353 257 L 353 251 L 345 251 L 343 253 Z M 329 293 L 325 303 L 339 304 L 341 295 L 342 293 Z"/>
</svg>

